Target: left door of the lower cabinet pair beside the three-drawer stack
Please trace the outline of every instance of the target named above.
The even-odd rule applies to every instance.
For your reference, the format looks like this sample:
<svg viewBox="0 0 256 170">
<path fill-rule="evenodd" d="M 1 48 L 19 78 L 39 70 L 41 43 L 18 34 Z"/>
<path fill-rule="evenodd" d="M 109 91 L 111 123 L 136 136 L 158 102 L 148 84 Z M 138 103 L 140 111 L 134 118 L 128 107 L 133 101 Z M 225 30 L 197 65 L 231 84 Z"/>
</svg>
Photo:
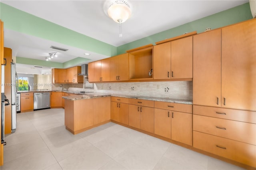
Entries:
<svg viewBox="0 0 256 170">
<path fill-rule="evenodd" d="M 155 134 L 171 138 L 171 111 L 155 108 L 154 112 Z"/>
</svg>

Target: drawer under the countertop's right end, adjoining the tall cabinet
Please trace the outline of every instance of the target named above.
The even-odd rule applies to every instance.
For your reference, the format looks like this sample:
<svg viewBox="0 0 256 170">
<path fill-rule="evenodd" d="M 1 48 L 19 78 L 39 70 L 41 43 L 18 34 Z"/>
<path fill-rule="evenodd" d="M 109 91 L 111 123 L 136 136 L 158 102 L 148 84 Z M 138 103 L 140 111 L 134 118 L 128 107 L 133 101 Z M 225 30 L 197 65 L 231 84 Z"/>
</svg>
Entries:
<svg viewBox="0 0 256 170">
<path fill-rule="evenodd" d="M 192 113 L 192 105 L 155 101 L 155 108 Z"/>
</svg>

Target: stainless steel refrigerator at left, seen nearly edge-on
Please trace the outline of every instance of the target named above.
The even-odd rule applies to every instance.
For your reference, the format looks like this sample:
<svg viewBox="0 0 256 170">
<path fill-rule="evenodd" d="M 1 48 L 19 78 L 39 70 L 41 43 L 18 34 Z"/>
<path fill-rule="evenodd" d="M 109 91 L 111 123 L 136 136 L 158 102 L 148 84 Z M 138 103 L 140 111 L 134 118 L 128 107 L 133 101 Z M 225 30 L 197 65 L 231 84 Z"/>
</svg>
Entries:
<svg viewBox="0 0 256 170">
<path fill-rule="evenodd" d="M 16 131 L 16 95 L 18 91 L 18 76 L 16 73 L 16 63 L 11 63 L 11 105 L 12 105 L 12 133 Z"/>
</svg>

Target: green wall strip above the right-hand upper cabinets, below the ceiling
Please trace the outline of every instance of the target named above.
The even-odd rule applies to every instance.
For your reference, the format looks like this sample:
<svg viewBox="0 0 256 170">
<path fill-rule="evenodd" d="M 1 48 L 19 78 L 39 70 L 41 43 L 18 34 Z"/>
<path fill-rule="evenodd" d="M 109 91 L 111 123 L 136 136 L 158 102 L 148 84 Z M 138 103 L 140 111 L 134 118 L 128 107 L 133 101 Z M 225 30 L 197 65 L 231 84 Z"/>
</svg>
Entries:
<svg viewBox="0 0 256 170">
<path fill-rule="evenodd" d="M 126 53 L 126 50 L 128 49 L 133 49 L 150 43 L 155 45 L 155 42 L 159 42 L 175 36 L 180 36 L 185 32 L 197 31 L 197 33 L 201 33 L 204 32 L 206 28 L 211 28 L 213 30 L 215 28 L 228 26 L 230 24 L 235 24 L 249 19 L 252 19 L 250 5 L 249 3 L 242 4 L 240 6 L 230 8 L 211 16 L 186 23 L 176 28 L 172 28 L 152 36 L 121 45 L 117 47 L 117 54 Z"/>
</svg>

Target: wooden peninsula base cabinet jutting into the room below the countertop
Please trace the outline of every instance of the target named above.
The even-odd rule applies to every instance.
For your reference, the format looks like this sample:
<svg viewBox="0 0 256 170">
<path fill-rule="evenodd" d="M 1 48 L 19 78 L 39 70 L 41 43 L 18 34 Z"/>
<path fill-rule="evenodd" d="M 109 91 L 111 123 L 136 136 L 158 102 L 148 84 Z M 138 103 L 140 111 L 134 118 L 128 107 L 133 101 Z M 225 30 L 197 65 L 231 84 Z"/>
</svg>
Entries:
<svg viewBox="0 0 256 170">
<path fill-rule="evenodd" d="M 73 134 L 110 122 L 110 97 L 65 99 L 65 126 Z"/>
</svg>

